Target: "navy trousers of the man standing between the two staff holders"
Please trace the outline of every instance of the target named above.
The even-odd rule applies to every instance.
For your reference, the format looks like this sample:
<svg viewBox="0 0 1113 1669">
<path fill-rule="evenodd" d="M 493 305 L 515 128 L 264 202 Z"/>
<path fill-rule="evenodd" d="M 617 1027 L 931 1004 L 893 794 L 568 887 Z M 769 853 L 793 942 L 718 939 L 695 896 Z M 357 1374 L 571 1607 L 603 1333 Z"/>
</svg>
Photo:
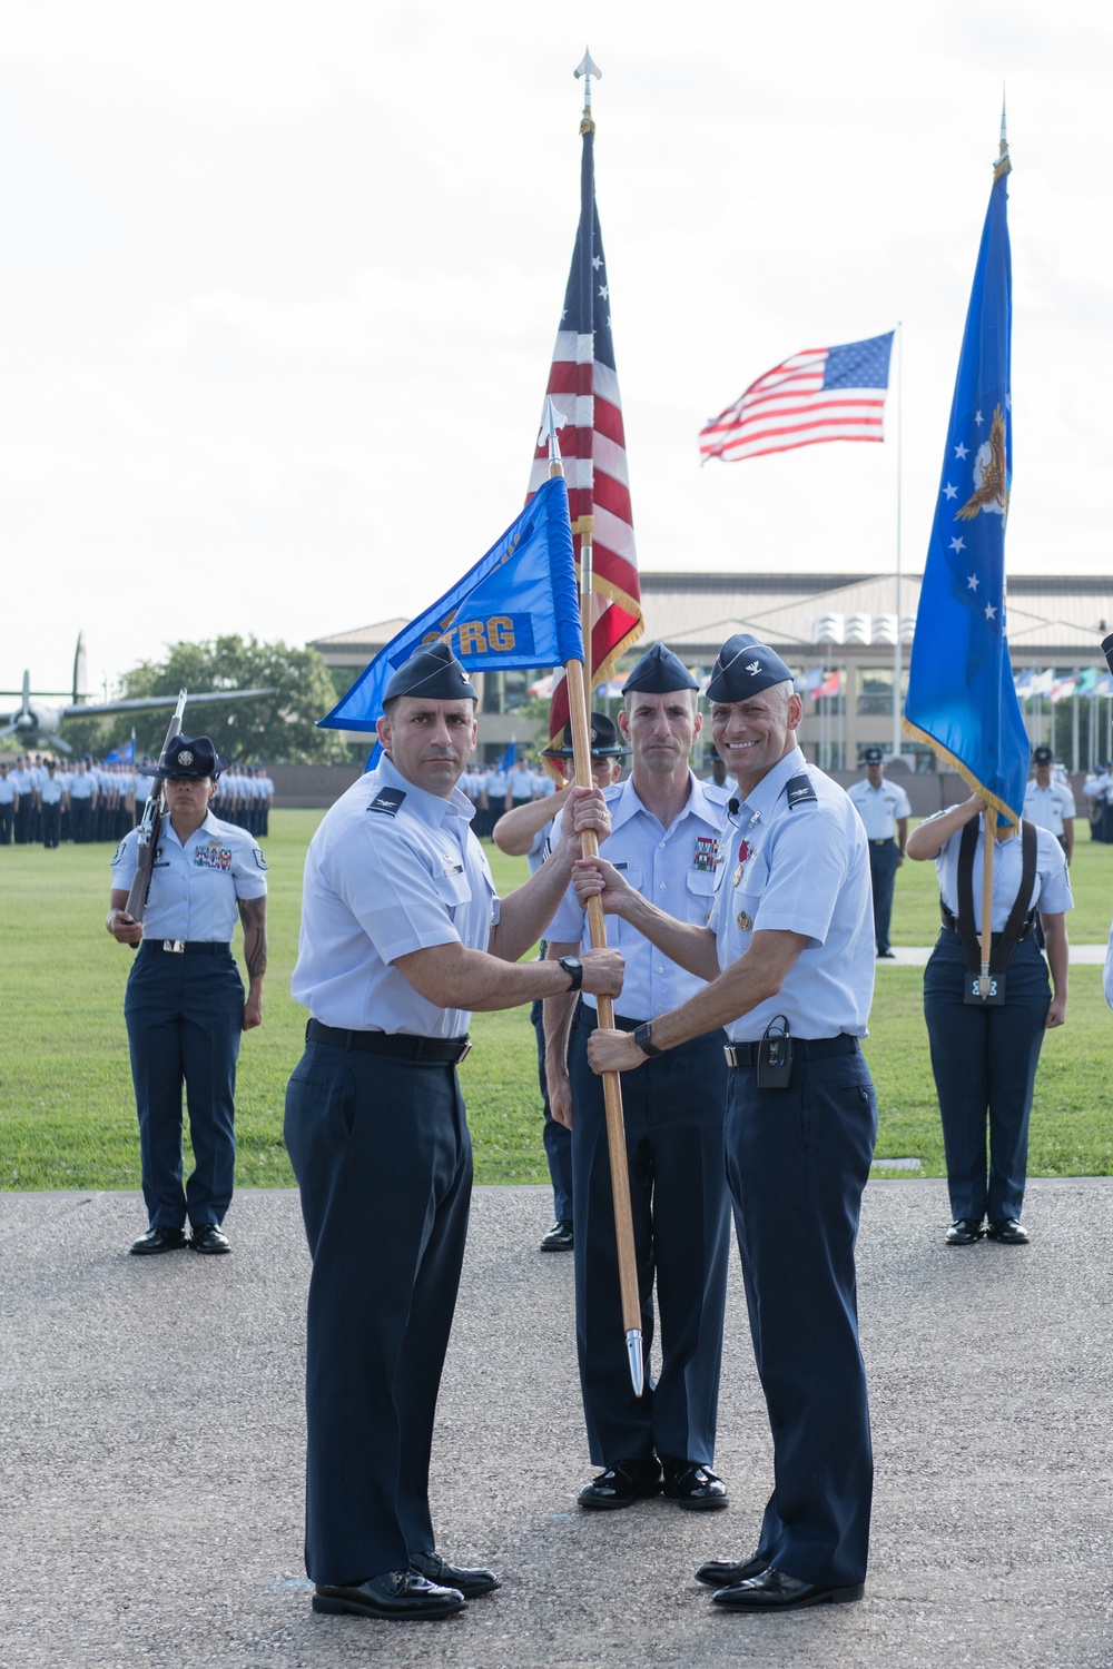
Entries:
<svg viewBox="0 0 1113 1669">
<path fill-rule="evenodd" d="M 629 1021 L 622 1021 L 629 1026 Z M 596 1011 L 569 1038 L 576 1344 L 596 1465 L 652 1454 L 714 1460 L 731 1208 L 723 1165 L 724 1036 L 709 1031 L 622 1073 L 646 1394 L 634 1397 L 622 1329 L 602 1078 L 587 1065 Z M 661 1379 L 649 1379 L 652 1290 Z"/>
</svg>

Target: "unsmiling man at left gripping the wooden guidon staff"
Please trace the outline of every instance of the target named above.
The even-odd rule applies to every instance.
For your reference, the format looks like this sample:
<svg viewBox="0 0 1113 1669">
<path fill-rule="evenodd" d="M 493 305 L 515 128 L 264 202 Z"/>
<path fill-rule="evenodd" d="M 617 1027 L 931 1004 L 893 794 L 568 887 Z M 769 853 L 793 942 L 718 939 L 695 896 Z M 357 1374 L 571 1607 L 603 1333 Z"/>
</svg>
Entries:
<svg viewBox="0 0 1113 1669">
<path fill-rule="evenodd" d="M 285 1142 L 309 1285 L 305 1567 L 314 1611 L 431 1619 L 497 1587 L 436 1552 L 429 1452 L 464 1258 L 471 1138 L 456 1065 L 471 1010 L 569 986 L 617 995 L 614 950 L 517 965 L 577 845 L 499 901 L 457 789 L 476 691 L 444 643 L 400 666 L 384 758 L 327 813 L 305 858 L 294 996 L 312 1018 Z M 584 789 L 564 829 L 606 833 Z M 492 1455 L 494 1464 L 494 1455 Z"/>
</svg>

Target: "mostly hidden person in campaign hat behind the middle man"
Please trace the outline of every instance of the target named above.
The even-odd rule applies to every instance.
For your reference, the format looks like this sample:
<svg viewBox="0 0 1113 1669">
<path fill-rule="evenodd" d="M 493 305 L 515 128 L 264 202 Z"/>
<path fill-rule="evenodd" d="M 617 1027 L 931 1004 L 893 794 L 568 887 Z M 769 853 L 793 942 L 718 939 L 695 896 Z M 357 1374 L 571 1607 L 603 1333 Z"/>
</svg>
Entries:
<svg viewBox="0 0 1113 1669">
<path fill-rule="evenodd" d="M 622 738 L 614 728 L 614 719 L 606 713 L 591 714 L 591 776 L 596 788 L 609 788 L 621 771 L 621 761 L 629 753 Z M 562 769 L 571 771 L 572 759 L 572 726 L 564 726 L 562 744 L 546 748 L 547 759 L 559 759 Z M 544 776 L 544 773 L 542 773 Z M 556 793 L 556 783 L 546 776 L 544 781 L 554 789 L 552 794 L 524 801 L 511 811 L 504 811 L 494 826 L 492 840 L 507 858 L 526 858 L 529 873 L 534 875 L 551 851 L 551 836 L 556 818 L 561 814 L 564 801 L 571 794 L 571 784 Z M 546 955 L 546 941 L 541 941 L 541 955 Z M 541 1083 L 541 1107 L 544 1113 L 542 1145 L 549 1180 L 552 1182 L 552 1228 L 541 1237 L 542 1252 L 571 1252 L 574 1245 L 572 1232 L 572 1132 L 567 1125 L 552 1117 L 549 1107 L 549 1080 L 546 1077 L 546 1026 L 544 1005 L 534 1001 L 529 1010 L 529 1021 L 537 1041 L 537 1080 Z"/>
</svg>

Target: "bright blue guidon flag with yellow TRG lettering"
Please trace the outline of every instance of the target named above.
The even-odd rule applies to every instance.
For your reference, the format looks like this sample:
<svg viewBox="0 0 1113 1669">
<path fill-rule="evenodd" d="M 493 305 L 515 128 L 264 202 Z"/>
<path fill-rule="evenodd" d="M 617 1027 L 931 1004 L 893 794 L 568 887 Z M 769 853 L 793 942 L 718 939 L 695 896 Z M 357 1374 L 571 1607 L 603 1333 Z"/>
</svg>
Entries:
<svg viewBox="0 0 1113 1669">
<path fill-rule="evenodd" d="M 544 482 L 487 554 L 392 638 L 317 723 L 325 729 L 374 731 L 392 674 L 437 639 L 479 673 L 582 663 L 572 529 L 561 476 Z"/>
</svg>

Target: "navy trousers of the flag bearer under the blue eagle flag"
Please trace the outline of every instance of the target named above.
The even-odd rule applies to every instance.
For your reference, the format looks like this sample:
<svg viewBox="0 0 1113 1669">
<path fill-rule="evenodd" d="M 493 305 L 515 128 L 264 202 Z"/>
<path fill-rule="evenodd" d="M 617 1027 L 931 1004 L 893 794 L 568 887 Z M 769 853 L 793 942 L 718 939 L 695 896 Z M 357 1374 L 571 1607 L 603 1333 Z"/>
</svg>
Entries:
<svg viewBox="0 0 1113 1669">
<path fill-rule="evenodd" d="M 1051 983 L 1035 938 L 1013 951 L 1000 1008 L 964 1003 L 964 978 L 961 940 L 943 928 L 924 970 L 924 1018 L 951 1215 L 993 1223 L 1020 1217 L 1025 1203 L 1028 1118 Z"/>
</svg>

